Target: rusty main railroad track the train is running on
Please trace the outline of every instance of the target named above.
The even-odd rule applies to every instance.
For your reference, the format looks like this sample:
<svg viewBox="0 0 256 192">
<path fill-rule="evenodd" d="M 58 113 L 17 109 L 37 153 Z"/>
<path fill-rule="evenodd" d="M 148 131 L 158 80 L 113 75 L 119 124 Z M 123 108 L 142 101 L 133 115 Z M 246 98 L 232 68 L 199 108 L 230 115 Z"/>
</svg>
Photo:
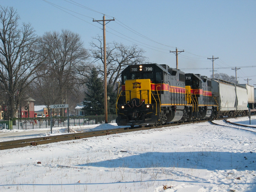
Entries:
<svg viewBox="0 0 256 192">
<path fill-rule="evenodd" d="M 206 121 L 208 120 L 201 120 L 193 123 L 206 122 Z M 184 122 L 179 124 L 165 124 L 165 125 L 153 126 L 153 127 L 152 126 L 134 127 L 134 128 L 125 127 L 125 128 L 116 128 L 116 129 L 110 129 L 110 130 L 69 133 L 69 134 L 47 136 L 47 137 L 36 137 L 36 138 L 21 139 L 21 140 L 3 141 L 3 142 L 0 142 L 0 150 L 20 148 L 20 147 L 26 147 L 26 146 L 37 146 L 37 145 L 54 143 L 59 141 L 76 140 L 76 139 L 104 136 L 104 135 L 110 135 L 110 134 L 116 134 L 116 133 L 156 129 L 160 127 L 176 126 L 180 124 L 189 124 L 189 123 L 191 122 Z"/>
</svg>

